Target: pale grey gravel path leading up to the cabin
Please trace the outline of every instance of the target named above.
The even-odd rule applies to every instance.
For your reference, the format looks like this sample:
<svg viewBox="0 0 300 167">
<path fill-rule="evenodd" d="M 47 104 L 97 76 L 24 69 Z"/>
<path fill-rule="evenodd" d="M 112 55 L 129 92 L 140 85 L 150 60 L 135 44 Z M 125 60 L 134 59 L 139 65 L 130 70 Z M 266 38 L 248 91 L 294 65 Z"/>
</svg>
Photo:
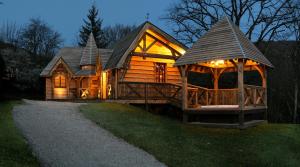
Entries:
<svg viewBox="0 0 300 167">
<path fill-rule="evenodd" d="M 14 120 L 43 166 L 165 166 L 85 119 L 80 104 L 24 101 L 14 108 Z"/>
</svg>

